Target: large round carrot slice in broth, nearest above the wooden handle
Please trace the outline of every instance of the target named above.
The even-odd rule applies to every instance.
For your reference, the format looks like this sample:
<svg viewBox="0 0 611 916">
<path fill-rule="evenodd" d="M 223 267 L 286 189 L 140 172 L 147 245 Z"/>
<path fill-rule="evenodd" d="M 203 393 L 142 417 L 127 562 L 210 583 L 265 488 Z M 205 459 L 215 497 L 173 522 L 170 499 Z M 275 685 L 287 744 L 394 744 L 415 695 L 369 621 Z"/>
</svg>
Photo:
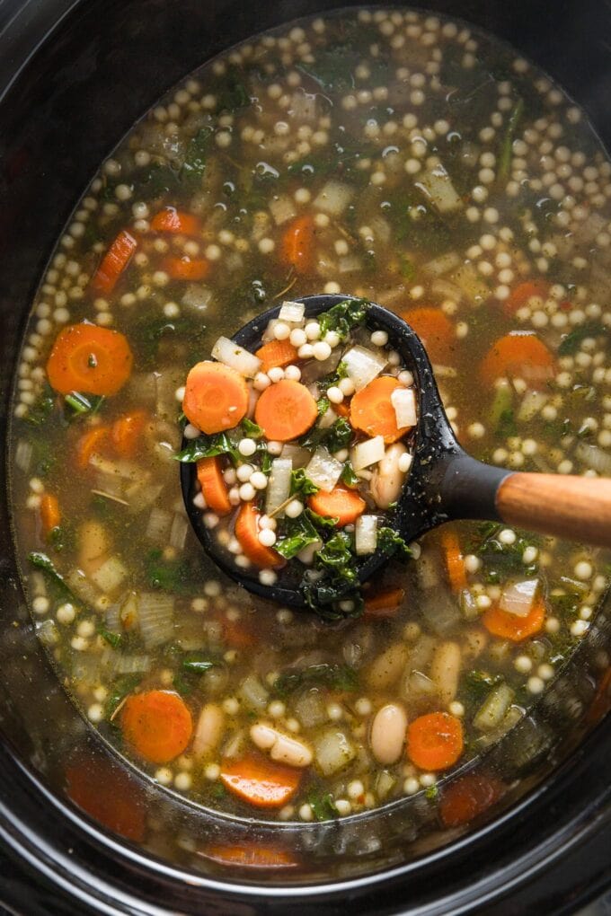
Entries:
<svg viewBox="0 0 611 916">
<path fill-rule="evenodd" d="M 544 387 L 553 371 L 553 355 L 536 334 L 512 331 L 492 344 L 479 367 L 479 376 L 488 387 L 504 376 L 523 378 L 531 387 Z"/>
</svg>

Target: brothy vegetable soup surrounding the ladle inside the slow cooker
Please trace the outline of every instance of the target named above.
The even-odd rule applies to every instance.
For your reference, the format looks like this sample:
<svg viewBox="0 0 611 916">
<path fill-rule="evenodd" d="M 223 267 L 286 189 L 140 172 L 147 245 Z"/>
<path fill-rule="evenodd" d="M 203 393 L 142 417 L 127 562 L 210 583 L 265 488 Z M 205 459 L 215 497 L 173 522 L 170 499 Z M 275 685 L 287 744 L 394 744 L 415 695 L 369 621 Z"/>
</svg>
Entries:
<svg viewBox="0 0 611 916">
<path fill-rule="evenodd" d="M 354 295 L 420 334 L 471 453 L 609 475 L 610 197 L 611 165 L 549 79 L 468 27 L 398 10 L 253 38 L 104 161 L 27 327 L 14 519 L 61 681 L 154 780 L 281 821 L 421 793 L 455 824 L 501 794 L 496 780 L 465 798 L 453 773 L 584 636 L 605 555 L 464 522 L 410 545 L 333 624 L 266 604 L 191 533 L 184 383 L 259 311 Z M 234 451 L 228 492 L 250 480 Z M 262 508 L 266 487 L 250 486 Z"/>
</svg>

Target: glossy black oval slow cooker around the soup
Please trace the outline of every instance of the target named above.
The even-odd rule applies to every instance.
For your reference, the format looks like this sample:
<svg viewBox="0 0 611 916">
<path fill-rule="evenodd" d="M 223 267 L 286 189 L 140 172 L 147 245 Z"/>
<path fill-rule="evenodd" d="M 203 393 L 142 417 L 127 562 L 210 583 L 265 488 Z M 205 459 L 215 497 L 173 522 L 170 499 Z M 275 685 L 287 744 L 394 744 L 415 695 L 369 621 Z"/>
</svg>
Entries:
<svg viewBox="0 0 611 916">
<path fill-rule="evenodd" d="M 427 5 L 496 32 L 540 63 L 584 104 L 609 145 L 611 15 L 600 0 Z M 202 60 L 261 29 L 330 7 L 321 0 L 0 0 L 0 441 L 29 302 L 62 225 L 104 155 Z M 0 904 L 28 916 L 247 916 L 295 907 L 304 914 L 349 908 L 561 914 L 611 882 L 611 733 L 608 723 L 598 722 L 605 712 L 600 702 L 588 713 L 601 653 L 611 641 L 605 616 L 584 640 L 573 671 L 556 685 L 541 721 L 553 721 L 553 704 L 560 708 L 569 694 L 579 697 L 584 714 L 570 728 L 562 719 L 562 746 L 542 748 L 526 794 L 516 794 L 496 820 L 451 845 L 437 838 L 409 861 L 372 859 L 369 875 L 366 867 L 344 869 L 344 877 L 330 883 L 324 872 L 318 881 L 311 872 L 305 884 L 283 887 L 256 871 L 238 876 L 247 883 L 236 884 L 218 870 L 188 867 L 161 840 L 145 850 L 104 831 L 67 799 L 63 762 L 80 755 L 100 768 L 101 790 L 115 764 L 60 688 L 34 636 L 12 556 L 4 463 L 0 473 Z M 126 791 L 146 804 L 151 787 L 135 773 L 125 780 Z M 172 805 L 176 823 L 199 816 L 184 804 L 180 810 L 179 801 Z M 382 829 L 388 823 L 389 836 L 396 832 L 387 813 L 371 816 Z M 219 829 L 205 824 L 205 830 Z M 396 850 L 400 837 L 388 843 Z"/>
</svg>

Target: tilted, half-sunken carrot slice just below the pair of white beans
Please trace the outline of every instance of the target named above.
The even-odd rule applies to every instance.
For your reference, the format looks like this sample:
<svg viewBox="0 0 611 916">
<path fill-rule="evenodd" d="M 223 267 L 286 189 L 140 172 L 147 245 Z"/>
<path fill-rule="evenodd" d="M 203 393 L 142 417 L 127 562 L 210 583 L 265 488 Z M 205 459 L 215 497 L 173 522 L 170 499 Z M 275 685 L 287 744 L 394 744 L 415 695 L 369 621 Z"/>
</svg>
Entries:
<svg viewBox="0 0 611 916">
<path fill-rule="evenodd" d="M 256 808 L 281 808 L 299 788 L 299 769 L 262 758 L 225 760 L 221 765 L 224 786 Z"/>
</svg>

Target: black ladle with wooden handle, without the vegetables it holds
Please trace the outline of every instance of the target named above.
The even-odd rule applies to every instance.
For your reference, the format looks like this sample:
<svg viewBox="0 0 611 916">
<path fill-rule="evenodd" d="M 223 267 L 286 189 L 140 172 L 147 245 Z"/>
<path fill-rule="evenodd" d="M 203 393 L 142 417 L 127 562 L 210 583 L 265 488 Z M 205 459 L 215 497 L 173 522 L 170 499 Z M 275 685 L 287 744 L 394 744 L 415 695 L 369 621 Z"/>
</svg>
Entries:
<svg viewBox="0 0 611 916">
<path fill-rule="evenodd" d="M 320 295 L 296 301 L 305 305 L 306 318 L 315 318 L 333 305 L 352 298 Z M 257 315 L 232 339 L 254 352 L 261 345 L 267 323 L 278 318 L 280 307 Z M 554 474 L 515 474 L 477 461 L 456 441 L 435 384 L 431 362 L 418 335 L 398 315 L 373 302 L 368 306 L 365 323 L 371 331 L 387 332 L 388 343 L 398 351 L 402 365 L 414 376 L 419 394 L 418 423 L 412 431 L 413 461 L 397 506 L 388 513 L 387 522 L 404 540 L 408 543 L 416 540 L 453 518 L 486 518 L 611 546 L 611 481 Z M 475 378 L 473 384 L 476 384 Z M 511 487 L 507 486 L 509 479 Z M 204 551 L 224 573 L 250 592 L 267 599 L 291 607 L 306 606 L 299 582 L 283 581 L 289 573 L 280 570 L 277 583 L 264 585 L 259 582 L 255 568 L 238 568 L 231 554 L 216 542 L 213 530 L 203 523 L 202 510 L 193 504 L 197 494 L 195 464 L 180 464 L 180 483 L 191 525 Z M 387 559 L 387 554 L 378 551 L 360 562 L 360 581 L 366 582 Z"/>
</svg>

